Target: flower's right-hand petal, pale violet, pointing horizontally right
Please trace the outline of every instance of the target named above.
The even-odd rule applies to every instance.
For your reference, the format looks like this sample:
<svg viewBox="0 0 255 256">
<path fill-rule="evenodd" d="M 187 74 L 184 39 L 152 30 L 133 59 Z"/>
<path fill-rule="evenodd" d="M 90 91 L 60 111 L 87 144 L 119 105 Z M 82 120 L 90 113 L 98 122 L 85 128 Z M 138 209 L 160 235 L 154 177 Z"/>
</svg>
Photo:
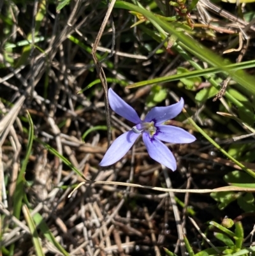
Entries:
<svg viewBox="0 0 255 256">
<path fill-rule="evenodd" d="M 159 140 L 169 143 L 191 143 L 196 138 L 182 128 L 171 125 L 158 125 L 159 132 L 154 135 Z"/>
</svg>

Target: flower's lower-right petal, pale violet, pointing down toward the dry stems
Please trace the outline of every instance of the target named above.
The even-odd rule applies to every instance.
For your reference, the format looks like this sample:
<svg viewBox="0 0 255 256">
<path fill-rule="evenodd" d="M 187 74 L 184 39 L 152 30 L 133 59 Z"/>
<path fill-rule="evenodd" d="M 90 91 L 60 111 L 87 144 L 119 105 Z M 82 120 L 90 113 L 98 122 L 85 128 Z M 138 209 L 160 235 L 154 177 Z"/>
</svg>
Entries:
<svg viewBox="0 0 255 256">
<path fill-rule="evenodd" d="M 149 156 L 152 159 L 171 170 L 176 170 L 177 167 L 175 157 L 173 156 L 173 153 L 171 153 L 170 149 L 163 144 L 163 142 L 157 140 L 155 137 L 151 140 L 148 133 L 143 133 L 143 142 L 147 148 Z"/>
</svg>

